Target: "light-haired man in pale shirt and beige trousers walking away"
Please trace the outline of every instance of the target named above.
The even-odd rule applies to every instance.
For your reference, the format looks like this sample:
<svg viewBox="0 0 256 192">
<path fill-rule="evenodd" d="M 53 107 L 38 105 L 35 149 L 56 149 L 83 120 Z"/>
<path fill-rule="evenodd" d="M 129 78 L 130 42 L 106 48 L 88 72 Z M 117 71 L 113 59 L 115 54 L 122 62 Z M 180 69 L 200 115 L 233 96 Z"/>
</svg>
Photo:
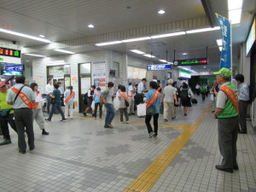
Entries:
<svg viewBox="0 0 256 192">
<path fill-rule="evenodd" d="M 172 119 L 175 119 L 174 102 L 177 104 L 177 89 L 172 87 L 173 80 L 168 79 L 168 85 L 164 89 L 162 101 L 164 102 L 164 121 L 168 121 L 168 111 L 171 110 Z"/>
</svg>

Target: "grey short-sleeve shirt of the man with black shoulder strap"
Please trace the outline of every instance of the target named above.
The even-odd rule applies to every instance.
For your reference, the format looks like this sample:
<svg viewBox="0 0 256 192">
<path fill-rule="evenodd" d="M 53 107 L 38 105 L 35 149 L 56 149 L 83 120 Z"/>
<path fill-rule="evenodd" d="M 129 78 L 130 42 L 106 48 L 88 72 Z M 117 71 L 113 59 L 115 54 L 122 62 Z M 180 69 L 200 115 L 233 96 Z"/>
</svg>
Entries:
<svg viewBox="0 0 256 192">
<path fill-rule="evenodd" d="M 14 87 L 16 89 L 20 90 L 22 86 L 24 86 L 24 84 L 15 84 Z M 27 86 L 24 86 L 22 88 L 21 92 L 23 92 L 30 99 L 30 101 L 33 101 L 33 100 L 36 99 L 36 96 L 33 93 L 32 89 L 27 87 Z M 16 96 L 16 93 L 12 89 L 9 89 L 6 101 L 7 102 L 14 102 L 15 101 L 15 96 Z M 14 104 L 13 108 L 17 109 L 17 108 L 28 108 L 28 107 L 26 106 L 25 102 L 23 102 L 20 99 L 20 96 L 18 96 L 16 101 L 15 101 L 15 104 Z"/>
</svg>

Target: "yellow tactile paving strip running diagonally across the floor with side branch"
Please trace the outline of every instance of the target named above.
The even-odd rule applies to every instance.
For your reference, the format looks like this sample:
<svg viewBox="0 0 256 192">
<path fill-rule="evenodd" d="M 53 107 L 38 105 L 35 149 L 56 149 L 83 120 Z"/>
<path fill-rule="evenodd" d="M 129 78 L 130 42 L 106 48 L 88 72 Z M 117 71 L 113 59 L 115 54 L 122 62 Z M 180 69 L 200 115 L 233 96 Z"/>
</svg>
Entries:
<svg viewBox="0 0 256 192">
<path fill-rule="evenodd" d="M 147 192 L 154 183 L 160 178 L 161 174 L 166 171 L 166 168 L 172 163 L 179 151 L 189 141 L 196 129 L 201 125 L 207 113 L 211 110 L 211 106 L 203 111 L 203 113 L 195 120 L 192 125 L 176 125 L 178 130 L 183 130 L 183 133 L 169 145 L 148 168 L 142 172 L 125 190 L 124 192 Z M 165 125 L 166 126 L 166 125 Z M 173 125 L 172 125 L 173 127 Z"/>
</svg>

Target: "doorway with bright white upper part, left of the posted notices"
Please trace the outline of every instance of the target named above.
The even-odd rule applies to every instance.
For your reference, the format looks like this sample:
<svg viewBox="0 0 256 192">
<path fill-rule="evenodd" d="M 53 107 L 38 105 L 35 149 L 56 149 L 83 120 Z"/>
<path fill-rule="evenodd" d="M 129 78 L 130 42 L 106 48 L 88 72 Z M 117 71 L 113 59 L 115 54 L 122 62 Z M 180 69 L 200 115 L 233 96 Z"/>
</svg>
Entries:
<svg viewBox="0 0 256 192">
<path fill-rule="evenodd" d="M 84 95 L 91 86 L 91 63 L 79 64 L 79 113 L 83 113 L 85 109 Z"/>
</svg>

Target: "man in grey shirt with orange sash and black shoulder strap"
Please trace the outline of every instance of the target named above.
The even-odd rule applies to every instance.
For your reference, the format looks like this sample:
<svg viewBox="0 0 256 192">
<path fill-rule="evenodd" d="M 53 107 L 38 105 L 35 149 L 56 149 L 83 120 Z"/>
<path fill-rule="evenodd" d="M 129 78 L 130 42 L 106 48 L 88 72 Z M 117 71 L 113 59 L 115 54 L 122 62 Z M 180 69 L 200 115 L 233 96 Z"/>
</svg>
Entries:
<svg viewBox="0 0 256 192">
<path fill-rule="evenodd" d="M 26 154 L 25 131 L 28 137 L 29 149 L 33 150 L 34 131 L 32 122 L 32 108 L 36 108 L 35 95 L 31 88 L 24 85 L 25 76 L 19 75 L 15 78 L 15 86 L 8 92 L 6 101 L 9 105 L 14 105 L 15 124 L 18 133 L 18 146 L 20 154 Z M 25 128 L 26 127 L 26 128 Z"/>
</svg>

